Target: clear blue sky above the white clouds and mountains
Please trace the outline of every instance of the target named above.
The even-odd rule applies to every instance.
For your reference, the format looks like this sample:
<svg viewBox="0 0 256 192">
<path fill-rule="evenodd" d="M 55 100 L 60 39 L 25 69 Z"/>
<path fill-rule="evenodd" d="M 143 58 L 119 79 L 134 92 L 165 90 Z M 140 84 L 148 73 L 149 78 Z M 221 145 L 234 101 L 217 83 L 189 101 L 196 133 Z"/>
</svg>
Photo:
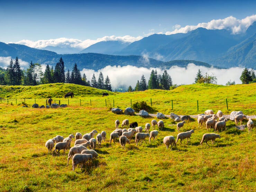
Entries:
<svg viewBox="0 0 256 192">
<path fill-rule="evenodd" d="M 256 14 L 256 1 L 1 1 L 0 42 L 146 36 Z"/>
</svg>

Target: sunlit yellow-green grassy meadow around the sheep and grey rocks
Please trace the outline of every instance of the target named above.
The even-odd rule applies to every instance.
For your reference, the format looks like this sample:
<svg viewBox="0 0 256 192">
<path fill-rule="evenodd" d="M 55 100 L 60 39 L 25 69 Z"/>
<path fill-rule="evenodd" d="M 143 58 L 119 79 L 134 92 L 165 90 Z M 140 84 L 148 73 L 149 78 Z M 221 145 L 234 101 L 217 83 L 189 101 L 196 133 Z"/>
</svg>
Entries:
<svg viewBox="0 0 256 192">
<path fill-rule="evenodd" d="M 178 141 L 177 148 L 171 151 L 166 149 L 163 138 L 173 135 L 176 139 L 178 132 L 176 123 L 166 118 L 165 128 L 151 144 L 147 139 L 136 147 L 134 138 L 126 149 L 121 149 L 118 142 L 109 144 L 116 119 L 137 121 L 143 128 L 156 119 L 116 115 L 110 111 L 114 105 L 125 110 L 131 102 L 146 101 L 150 105 L 151 99 L 152 107 L 166 115 L 197 115 L 206 109 L 222 110 L 224 114 L 241 110 L 245 115 L 256 115 L 255 85 L 193 84 L 170 91 L 108 92 L 108 97 L 102 97 L 103 90 L 74 84 L 0 86 L 0 191 L 256 191 L 255 127 L 248 134 L 247 128 L 240 131 L 235 122 L 228 121 L 227 129 L 219 133 L 220 139 L 214 144 L 209 141 L 210 146 L 200 146 L 202 135 L 208 131 L 198 128 L 195 119 L 181 129 L 194 129 L 190 143 Z M 75 97 L 64 99 L 63 95 L 71 91 Z M 69 106 L 31 107 L 35 99 L 40 106 L 49 97 L 64 104 L 69 102 Z M 28 108 L 22 108 L 24 99 Z M 68 151 L 63 154 L 61 150 L 60 156 L 48 154 L 48 139 L 76 132 L 85 134 L 93 129 L 105 130 L 107 140 L 102 146 L 97 145 L 99 158 L 92 167 L 83 171 L 76 167 L 72 171 L 71 161 L 66 166 Z"/>
</svg>

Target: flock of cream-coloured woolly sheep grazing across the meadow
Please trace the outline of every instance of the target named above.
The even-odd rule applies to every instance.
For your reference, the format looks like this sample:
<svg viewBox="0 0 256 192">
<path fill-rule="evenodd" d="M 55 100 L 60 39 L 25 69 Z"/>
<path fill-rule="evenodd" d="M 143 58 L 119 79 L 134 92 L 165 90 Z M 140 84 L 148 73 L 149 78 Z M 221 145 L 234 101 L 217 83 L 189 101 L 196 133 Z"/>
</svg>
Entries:
<svg viewBox="0 0 256 192">
<path fill-rule="evenodd" d="M 219 118 L 219 120 L 217 120 Z M 235 117 L 235 124 L 237 126 L 238 122 L 243 121 L 243 119 L 247 119 L 245 115 L 237 115 Z M 216 114 L 213 114 L 213 110 L 206 110 L 204 114 L 198 115 L 198 128 L 204 124 L 206 129 L 209 130 L 209 128 L 213 128 L 215 131 L 218 131 L 223 128 L 226 129 L 226 122 L 228 119 L 225 119 L 223 117 L 223 113 L 219 110 Z M 185 121 L 177 123 L 177 130 L 178 132 L 183 127 Z M 138 142 L 140 141 L 140 144 L 145 141 L 147 137 L 149 137 L 149 143 L 150 140 L 153 138 L 154 141 L 157 139 L 158 131 L 152 130 L 149 133 L 150 124 L 147 123 L 145 125 L 145 132 L 143 132 L 143 128 L 141 126 L 138 126 L 137 122 L 132 122 L 129 124 L 129 120 L 125 119 L 122 121 L 121 128 L 119 128 L 120 121 L 115 121 L 115 127 L 116 129 L 113 130 L 110 134 L 110 144 L 111 141 L 115 143 L 115 140 L 119 138 L 119 143 L 121 145 L 121 148 L 124 147 L 126 143 L 130 144 L 131 138 L 135 135 L 135 143 L 136 146 L 138 146 Z M 164 122 L 163 120 L 159 120 L 158 122 L 156 120 L 151 121 L 151 126 L 155 128 L 155 126 L 158 126 L 159 130 L 162 130 L 164 128 Z M 248 131 L 252 131 L 253 128 L 253 121 L 249 118 L 247 122 Z M 126 128 L 124 128 L 126 127 Z M 129 127 L 129 128 L 128 128 Z M 77 164 L 81 164 L 81 170 L 84 166 L 90 166 L 92 165 L 92 162 L 94 159 L 98 157 L 98 153 L 94 150 L 96 147 L 96 144 L 101 145 L 102 141 L 106 140 L 106 131 L 102 131 L 96 136 L 96 139 L 94 138 L 94 135 L 98 133 L 97 130 L 92 130 L 90 133 L 86 133 L 82 135 L 81 133 L 77 132 L 75 136 L 73 134 L 69 135 L 67 138 L 64 138 L 60 135 L 57 135 L 53 139 L 49 139 L 46 141 L 45 146 L 48 149 L 48 154 L 51 153 L 54 155 L 55 153 L 57 155 L 60 154 L 60 150 L 63 150 L 63 153 L 65 154 L 65 151 L 69 149 L 68 152 L 68 158 L 67 158 L 67 165 L 70 159 L 72 159 L 72 170 L 74 171 Z M 182 144 L 183 139 L 187 139 L 187 142 L 190 141 L 190 137 L 194 133 L 194 130 L 181 132 L 177 135 L 176 141 L 174 136 L 165 136 L 163 139 L 163 143 L 166 145 L 166 148 L 171 145 L 171 150 L 173 146 L 176 147 L 176 143 L 180 139 L 180 143 Z M 215 142 L 216 138 L 220 138 L 219 134 L 215 133 L 206 133 L 203 135 L 202 140 L 200 142 L 200 145 L 207 142 L 209 140 L 212 141 L 212 144 Z M 72 139 L 75 139 L 74 146 L 71 147 L 71 141 Z M 56 143 L 56 144 L 55 144 Z M 145 141 L 146 143 L 146 141 Z M 55 144 L 55 148 L 54 148 Z M 207 144 L 208 145 L 208 144 Z M 54 148 L 54 150 L 53 150 Z M 91 149 L 88 149 L 91 148 Z"/>
</svg>

